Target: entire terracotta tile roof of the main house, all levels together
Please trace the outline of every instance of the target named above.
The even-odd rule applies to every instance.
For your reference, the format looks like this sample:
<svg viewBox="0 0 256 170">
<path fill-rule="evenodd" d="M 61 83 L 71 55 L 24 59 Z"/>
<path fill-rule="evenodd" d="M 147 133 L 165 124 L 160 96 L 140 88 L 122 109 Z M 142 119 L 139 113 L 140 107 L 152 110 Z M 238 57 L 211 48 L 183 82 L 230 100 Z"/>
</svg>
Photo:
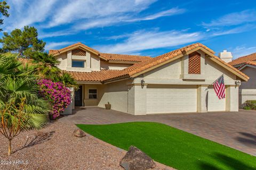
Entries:
<svg viewBox="0 0 256 170">
<path fill-rule="evenodd" d="M 90 48 L 82 43 L 77 43 L 60 50 L 57 52 L 51 51 L 51 54 L 59 55 L 62 52 L 66 52 L 70 49 L 75 49 L 77 47 L 84 47 Z M 94 50 L 90 48 L 90 50 Z M 130 61 L 130 62 L 139 62 L 133 64 L 132 66 L 127 67 L 123 70 L 101 70 L 101 71 L 94 71 L 94 72 L 69 72 L 77 81 L 101 81 L 101 82 L 111 82 L 116 80 L 121 80 L 124 78 L 130 77 L 137 77 L 140 74 L 143 74 L 147 71 L 153 70 L 156 67 L 164 65 L 166 63 L 172 62 L 177 60 L 178 58 L 196 52 L 197 50 L 202 50 L 204 53 L 210 56 L 210 59 L 215 63 L 225 67 L 228 71 L 237 75 L 237 77 L 241 78 L 242 80 L 247 81 L 249 77 L 242 73 L 241 71 L 235 69 L 235 67 L 231 66 L 230 64 L 222 61 L 219 57 L 214 55 L 213 50 L 204 46 L 201 43 L 195 43 L 192 45 L 188 45 L 186 47 L 182 47 L 172 52 L 165 53 L 163 55 L 159 55 L 157 57 L 147 57 L 147 56 L 136 56 L 136 55 L 121 55 L 121 54 L 108 54 L 108 53 L 99 53 L 98 51 L 94 50 L 95 53 L 107 61 Z"/>
</svg>

